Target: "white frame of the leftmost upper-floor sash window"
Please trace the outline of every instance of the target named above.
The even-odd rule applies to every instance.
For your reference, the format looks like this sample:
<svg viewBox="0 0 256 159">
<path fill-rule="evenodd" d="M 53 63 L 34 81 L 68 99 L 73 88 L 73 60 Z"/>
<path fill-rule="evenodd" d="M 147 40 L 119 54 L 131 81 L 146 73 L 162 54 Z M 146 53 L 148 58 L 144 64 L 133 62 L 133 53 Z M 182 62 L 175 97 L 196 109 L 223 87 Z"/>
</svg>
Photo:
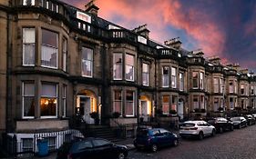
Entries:
<svg viewBox="0 0 256 159">
<path fill-rule="evenodd" d="M 34 30 L 34 43 L 25 43 L 25 30 L 26 29 L 33 29 Z M 36 65 L 36 28 L 35 27 L 23 27 L 22 28 L 22 35 L 23 35 L 23 39 L 22 39 L 22 65 L 23 66 L 35 66 Z M 33 45 L 34 44 L 34 64 L 25 64 L 25 45 Z"/>
</svg>

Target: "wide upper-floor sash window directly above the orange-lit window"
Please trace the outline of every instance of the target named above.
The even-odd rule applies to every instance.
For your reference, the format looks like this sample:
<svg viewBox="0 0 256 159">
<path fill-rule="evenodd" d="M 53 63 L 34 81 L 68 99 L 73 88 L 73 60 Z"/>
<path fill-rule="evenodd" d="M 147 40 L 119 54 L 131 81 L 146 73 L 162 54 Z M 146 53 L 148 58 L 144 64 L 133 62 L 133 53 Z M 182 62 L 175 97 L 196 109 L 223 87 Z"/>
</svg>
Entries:
<svg viewBox="0 0 256 159">
<path fill-rule="evenodd" d="M 57 68 L 58 35 L 42 29 L 41 65 Z"/>
</svg>

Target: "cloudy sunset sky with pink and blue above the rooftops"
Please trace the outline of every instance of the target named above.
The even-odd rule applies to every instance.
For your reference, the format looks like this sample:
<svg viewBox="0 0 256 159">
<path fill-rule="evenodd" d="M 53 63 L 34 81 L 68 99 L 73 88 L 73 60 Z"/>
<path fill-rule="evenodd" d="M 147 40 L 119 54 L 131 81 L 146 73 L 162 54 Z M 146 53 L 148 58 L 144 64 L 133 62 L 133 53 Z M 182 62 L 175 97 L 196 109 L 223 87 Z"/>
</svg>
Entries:
<svg viewBox="0 0 256 159">
<path fill-rule="evenodd" d="M 88 0 L 62 0 L 81 9 Z M 256 72 L 255 0 L 97 0 L 98 15 L 128 29 L 148 24 L 150 38 L 180 38 L 223 63 Z"/>
</svg>

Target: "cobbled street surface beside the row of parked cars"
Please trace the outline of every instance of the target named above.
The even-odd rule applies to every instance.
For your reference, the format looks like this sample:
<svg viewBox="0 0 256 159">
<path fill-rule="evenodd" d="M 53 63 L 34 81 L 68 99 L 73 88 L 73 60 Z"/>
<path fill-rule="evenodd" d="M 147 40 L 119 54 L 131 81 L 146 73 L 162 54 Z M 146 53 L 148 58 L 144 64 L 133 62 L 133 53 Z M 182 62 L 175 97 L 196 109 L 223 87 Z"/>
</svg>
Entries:
<svg viewBox="0 0 256 159">
<path fill-rule="evenodd" d="M 216 134 L 202 141 L 181 139 L 177 147 L 166 147 L 157 153 L 131 151 L 128 159 L 255 159 L 256 125 L 233 132 Z"/>
</svg>

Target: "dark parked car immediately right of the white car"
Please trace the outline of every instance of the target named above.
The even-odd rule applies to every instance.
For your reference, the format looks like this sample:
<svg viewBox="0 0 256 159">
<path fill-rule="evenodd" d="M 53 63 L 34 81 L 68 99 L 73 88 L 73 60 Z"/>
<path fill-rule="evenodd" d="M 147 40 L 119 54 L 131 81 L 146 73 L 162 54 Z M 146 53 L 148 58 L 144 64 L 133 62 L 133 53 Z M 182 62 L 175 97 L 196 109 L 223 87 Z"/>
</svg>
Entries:
<svg viewBox="0 0 256 159">
<path fill-rule="evenodd" d="M 225 119 L 224 117 L 212 118 L 208 121 L 208 123 L 213 125 L 216 128 L 218 133 L 234 130 L 233 122 L 228 119 Z"/>
</svg>

